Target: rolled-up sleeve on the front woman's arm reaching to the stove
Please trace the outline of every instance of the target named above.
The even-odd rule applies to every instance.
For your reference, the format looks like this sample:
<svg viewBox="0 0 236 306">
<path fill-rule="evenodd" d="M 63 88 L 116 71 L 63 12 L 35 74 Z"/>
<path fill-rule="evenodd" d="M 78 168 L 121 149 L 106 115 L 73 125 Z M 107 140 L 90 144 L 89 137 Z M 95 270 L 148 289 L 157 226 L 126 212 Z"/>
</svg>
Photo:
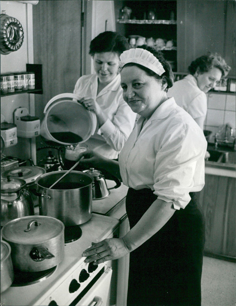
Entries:
<svg viewBox="0 0 236 306">
<path fill-rule="evenodd" d="M 189 192 L 204 186 L 204 154 L 207 143 L 189 130 L 189 126 L 174 126 L 169 131 L 171 141 L 163 139 L 154 170 L 154 194 L 175 209 L 185 208 Z M 193 137 L 195 135 L 195 137 Z"/>
</svg>

